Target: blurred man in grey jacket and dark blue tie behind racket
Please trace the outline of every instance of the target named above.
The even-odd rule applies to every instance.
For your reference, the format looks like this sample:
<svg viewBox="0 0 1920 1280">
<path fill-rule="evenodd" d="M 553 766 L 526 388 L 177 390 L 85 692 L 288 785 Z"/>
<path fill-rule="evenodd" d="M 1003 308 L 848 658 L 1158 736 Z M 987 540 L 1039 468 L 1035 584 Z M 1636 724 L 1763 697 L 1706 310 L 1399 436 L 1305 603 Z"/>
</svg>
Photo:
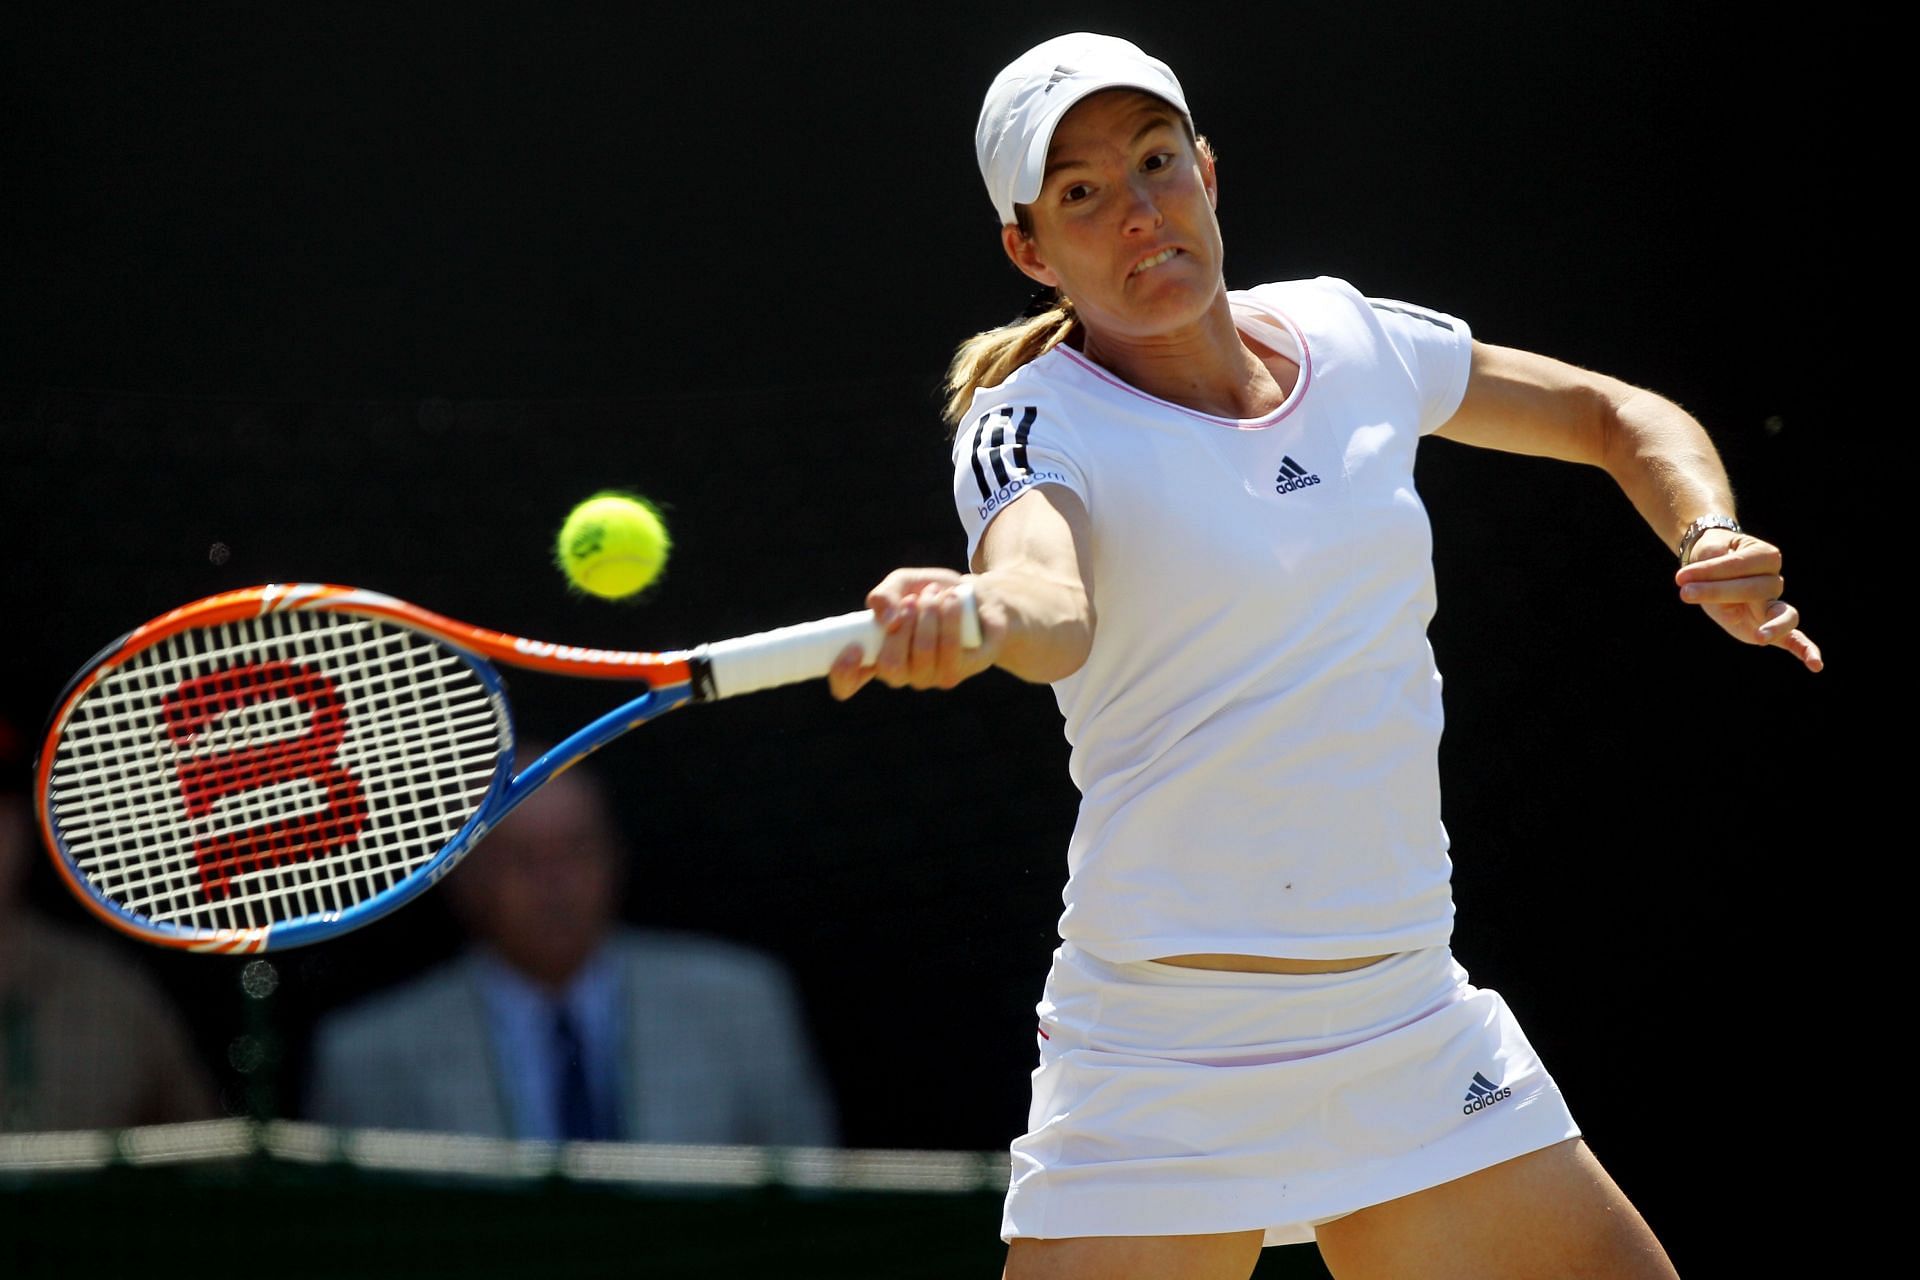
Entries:
<svg viewBox="0 0 1920 1280">
<path fill-rule="evenodd" d="M 785 971 L 732 942 L 620 925 L 628 858 L 586 768 L 536 791 L 442 885 L 472 946 L 317 1027 L 309 1117 L 501 1138 L 833 1144 Z"/>
</svg>

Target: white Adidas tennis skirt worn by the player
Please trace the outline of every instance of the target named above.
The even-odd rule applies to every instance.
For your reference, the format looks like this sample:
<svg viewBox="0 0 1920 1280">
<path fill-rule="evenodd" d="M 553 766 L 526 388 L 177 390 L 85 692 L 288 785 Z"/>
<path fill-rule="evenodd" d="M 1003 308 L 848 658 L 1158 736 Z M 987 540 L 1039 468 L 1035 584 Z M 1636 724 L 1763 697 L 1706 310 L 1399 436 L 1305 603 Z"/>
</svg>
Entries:
<svg viewBox="0 0 1920 1280">
<path fill-rule="evenodd" d="M 1580 1134 L 1496 992 L 1448 948 L 1350 973 L 1217 973 L 1054 952 L 1000 1236 L 1265 1230 Z"/>
</svg>

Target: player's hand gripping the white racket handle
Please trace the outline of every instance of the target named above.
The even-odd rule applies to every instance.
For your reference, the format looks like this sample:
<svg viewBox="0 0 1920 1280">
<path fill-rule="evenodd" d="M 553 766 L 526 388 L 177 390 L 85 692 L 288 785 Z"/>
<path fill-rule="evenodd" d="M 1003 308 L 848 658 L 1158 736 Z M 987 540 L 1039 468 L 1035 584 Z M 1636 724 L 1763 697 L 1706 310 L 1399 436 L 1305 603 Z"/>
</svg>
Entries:
<svg viewBox="0 0 1920 1280">
<path fill-rule="evenodd" d="M 868 591 L 866 604 L 879 618 L 885 639 L 874 664 L 862 662 L 860 647 L 849 647 L 833 670 L 828 687 L 835 699 L 851 699 L 870 679 L 895 689 L 952 689 L 968 676 L 993 666 L 1004 628 L 981 610 L 977 649 L 960 643 L 960 614 L 964 610 L 960 574 L 948 568 L 897 568 L 877 587 Z"/>
</svg>

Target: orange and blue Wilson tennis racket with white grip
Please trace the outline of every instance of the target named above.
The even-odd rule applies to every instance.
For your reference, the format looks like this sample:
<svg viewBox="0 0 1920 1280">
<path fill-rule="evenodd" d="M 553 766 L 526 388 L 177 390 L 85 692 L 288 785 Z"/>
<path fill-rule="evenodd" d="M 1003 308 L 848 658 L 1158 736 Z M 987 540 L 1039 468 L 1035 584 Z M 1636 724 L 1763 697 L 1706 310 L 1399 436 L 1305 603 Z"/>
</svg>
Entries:
<svg viewBox="0 0 1920 1280">
<path fill-rule="evenodd" d="M 962 583 L 966 589 L 968 583 Z M 979 645 L 964 593 L 962 641 Z M 242 954 L 405 906 L 547 779 L 687 702 L 828 674 L 872 612 L 622 652 L 520 639 L 376 591 L 275 583 L 184 604 L 102 651 L 35 762 L 61 879 L 106 923 Z M 513 775 L 493 662 L 647 691 Z"/>
</svg>

